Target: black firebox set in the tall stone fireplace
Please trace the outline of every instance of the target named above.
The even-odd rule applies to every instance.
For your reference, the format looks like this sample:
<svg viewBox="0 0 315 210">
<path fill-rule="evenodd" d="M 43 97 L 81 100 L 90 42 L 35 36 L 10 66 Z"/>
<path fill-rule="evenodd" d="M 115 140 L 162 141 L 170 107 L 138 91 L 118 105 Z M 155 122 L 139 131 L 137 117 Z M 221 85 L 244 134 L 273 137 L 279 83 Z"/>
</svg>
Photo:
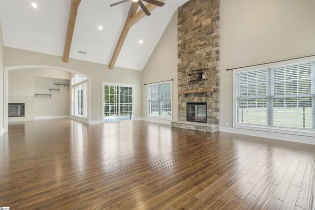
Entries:
<svg viewBox="0 0 315 210">
<path fill-rule="evenodd" d="M 186 120 L 191 122 L 207 123 L 207 103 L 188 102 Z"/>
</svg>

